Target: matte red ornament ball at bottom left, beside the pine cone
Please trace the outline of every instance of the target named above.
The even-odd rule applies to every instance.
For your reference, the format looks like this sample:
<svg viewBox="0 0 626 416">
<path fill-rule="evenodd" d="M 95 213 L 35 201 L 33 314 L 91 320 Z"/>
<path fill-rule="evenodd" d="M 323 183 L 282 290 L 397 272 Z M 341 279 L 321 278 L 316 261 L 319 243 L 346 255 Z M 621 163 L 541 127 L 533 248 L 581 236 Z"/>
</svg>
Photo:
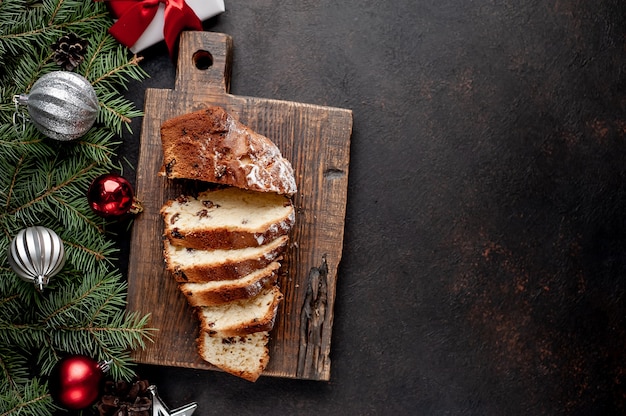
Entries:
<svg viewBox="0 0 626 416">
<path fill-rule="evenodd" d="M 103 363 L 83 355 L 72 355 L 55 367 L 49 383 L 50 392 L 66 409 L 85 409 L 100 395 L 103 377 Z"/>
</svg>

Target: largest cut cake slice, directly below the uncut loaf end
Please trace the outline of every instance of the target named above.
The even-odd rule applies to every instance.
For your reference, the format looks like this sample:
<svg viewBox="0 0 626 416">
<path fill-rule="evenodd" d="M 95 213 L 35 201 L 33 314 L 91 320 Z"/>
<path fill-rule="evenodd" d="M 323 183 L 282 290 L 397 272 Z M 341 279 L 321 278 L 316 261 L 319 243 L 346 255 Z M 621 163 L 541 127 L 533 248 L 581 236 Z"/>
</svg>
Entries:
<svg viewBox="0 0 626 416">
<path fill-rule="evenodd" d="M 295 222 L 286 196 L 234 187 L 180 196 L 161 215 L 173 245 L 204 250 L 260 246 L 288 234 Z"/>
</svg>

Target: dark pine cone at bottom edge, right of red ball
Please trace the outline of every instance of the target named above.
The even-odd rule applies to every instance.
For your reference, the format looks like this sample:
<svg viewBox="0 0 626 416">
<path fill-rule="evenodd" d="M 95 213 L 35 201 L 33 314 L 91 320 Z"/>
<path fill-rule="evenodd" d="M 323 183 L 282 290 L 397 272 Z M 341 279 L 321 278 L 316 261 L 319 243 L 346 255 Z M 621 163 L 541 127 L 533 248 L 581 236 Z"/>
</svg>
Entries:
<svg viewBox="0 0 626 416">
<path fill-rule="evenodd" d="M 96 404 L 100 416 L 149 416 L 152 399 L 147 380 L 107 381 L 104 393 Z"/>
</svg>

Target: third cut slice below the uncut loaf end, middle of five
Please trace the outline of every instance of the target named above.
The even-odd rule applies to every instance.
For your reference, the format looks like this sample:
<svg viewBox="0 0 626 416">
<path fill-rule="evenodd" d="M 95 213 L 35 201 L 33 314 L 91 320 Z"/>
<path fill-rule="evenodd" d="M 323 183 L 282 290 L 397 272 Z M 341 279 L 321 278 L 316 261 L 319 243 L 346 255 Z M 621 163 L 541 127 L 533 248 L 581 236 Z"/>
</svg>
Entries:
<svg viewBox="0 0 626 416">
<path fill-rule="evenodd" d="M 180 283 L 179 289 L 190 306 L 213 306 L 258 295 L 263 288 L 276 284 L 280 263 L 272 262 L 240 279 L 203 283 Z"/>
</svg>

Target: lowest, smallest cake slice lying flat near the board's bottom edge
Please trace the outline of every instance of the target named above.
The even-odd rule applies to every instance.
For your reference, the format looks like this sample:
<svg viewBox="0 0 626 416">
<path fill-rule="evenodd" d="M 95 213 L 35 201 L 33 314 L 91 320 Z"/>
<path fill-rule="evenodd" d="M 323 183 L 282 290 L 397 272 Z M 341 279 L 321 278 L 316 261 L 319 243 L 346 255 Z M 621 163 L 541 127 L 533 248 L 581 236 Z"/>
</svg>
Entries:
<svg viewBox="0 0 626 416">
<path fill-rule="evenodd" d="M 212 337 L 200 331 L 197 349 L 200 357 L 215 367 L 255 382 L 270 360 L 269 332 L 255 332 L 237 337 Z"/>
</svg>

